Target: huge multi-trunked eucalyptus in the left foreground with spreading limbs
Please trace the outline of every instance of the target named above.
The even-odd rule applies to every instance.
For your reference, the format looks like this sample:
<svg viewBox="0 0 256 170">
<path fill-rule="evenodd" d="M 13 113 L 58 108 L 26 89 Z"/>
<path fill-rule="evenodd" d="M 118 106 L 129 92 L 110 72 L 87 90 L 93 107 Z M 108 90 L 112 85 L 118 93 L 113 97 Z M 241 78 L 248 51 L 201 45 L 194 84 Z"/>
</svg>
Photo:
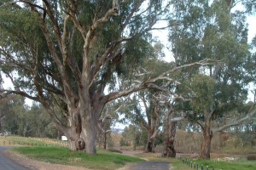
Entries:
<svg viewBox="0 0 256 170">
<path fill-rule="evenodd" d="M 104 105 L 166 78 L 131 82 L 151 56 L 150 31 L 158 29 L 154 25 L 168 5 L 159 0 L 1 1 L 1 73 L 14 85 L 3 92 L 40 102 L 72 150 L 83 139 L 86 152 L 96 154 L 96 124 Z M 67 122 L 61 122 L 54 105 Z"/>
</svg>

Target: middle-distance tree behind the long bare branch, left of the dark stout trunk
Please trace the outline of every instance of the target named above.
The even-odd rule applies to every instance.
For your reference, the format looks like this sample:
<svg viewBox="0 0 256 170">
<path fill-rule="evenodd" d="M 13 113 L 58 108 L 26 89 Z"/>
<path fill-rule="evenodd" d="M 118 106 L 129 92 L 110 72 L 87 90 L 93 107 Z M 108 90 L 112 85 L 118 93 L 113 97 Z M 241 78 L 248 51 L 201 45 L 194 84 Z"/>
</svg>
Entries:
<svg viewBox="0 0 256 170">
<path fill-rule="evenodd" d="M 168 71 L 172 68 L 172 64 L 166 63 L 161 60 L 155 60 L 160 56 L 159 47 L 160 44 L 154 46 L 154 58 L 148 59 L 143 65 L 143 72 L 135 75 L 136 81 L 144 79 L 146 77 L 155 77 L 160 75 L 164 71 Z M 145 129 L 148 133 L 148 141 L 146 144 L 146 152 L 154 152 L 155 141 L 160 132 L 160 126 L 162 124 L 163 111 L 160 106 L 160 100 L 156 98 L 161 93 L 161 90 L 166 90 L 166 87 L 161 88 L 164 84 L 171 82 L 162 80 L 154 83 L 154 88 L 142 90 L 135 94 L 132 94 L 130 99 L 126 99 L 127 105 L 125 111 L 122 111 L 125 119 L 131 122 L 133 125 Z M 175 83 L 174 83 L 175 84 Z M 152 85 L 153 86 L 153 85 Z"/>
</svg>

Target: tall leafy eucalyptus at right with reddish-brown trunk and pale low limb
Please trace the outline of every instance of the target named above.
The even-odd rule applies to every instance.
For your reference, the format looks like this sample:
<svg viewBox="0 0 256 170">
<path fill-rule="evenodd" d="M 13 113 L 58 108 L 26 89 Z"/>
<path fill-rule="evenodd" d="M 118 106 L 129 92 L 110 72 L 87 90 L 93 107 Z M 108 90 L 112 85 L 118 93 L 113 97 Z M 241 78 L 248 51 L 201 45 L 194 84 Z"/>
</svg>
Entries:
<svg viewBox="0 0 256 170">
<path fill-rule="evenodd" d="M 245 119 L 212 129 L 213 120 L 218 122 L 218 118 L 233 114 L 233 109 L 241 107 L 247 99 L 246 87 L 252 79 L 246 73 L 250 71 L 246 65 L 251 58 L 246 17 L 232 10 L 236 1 L 172 1 L 172 4 L 170 41 L 177 65 L 206 58 L 221 61 L 218 65 L 195 65 L 182 72 L 182 78 L 189 80 L 183 82 L 187 86 L 183 89 L 188 90 L 184 96 L 193 99 L 183 105 L 195 112 L 191 120 L 201 126 L 204 136 L 200 157 L 209 159 L 213 133 L 241 123 L 255 113 L 254 109 Z"/>
</svg>

